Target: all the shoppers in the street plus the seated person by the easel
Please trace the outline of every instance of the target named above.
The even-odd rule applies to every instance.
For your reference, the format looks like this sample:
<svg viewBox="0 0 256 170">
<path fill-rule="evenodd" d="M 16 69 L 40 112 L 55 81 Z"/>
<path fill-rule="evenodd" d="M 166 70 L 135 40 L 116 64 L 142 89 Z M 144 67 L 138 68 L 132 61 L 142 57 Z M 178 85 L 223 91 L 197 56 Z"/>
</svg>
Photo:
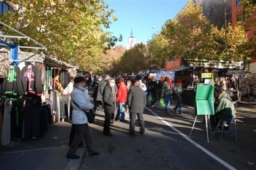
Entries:
<svg viewBox="0 0 256 170">
<path fill-rule="evenodd" d="M 125 122 L 125 111 L 129 112 L 129 134 L 135 135 L 136 117 L 140 122 L 140 133 L 145 133 L 145 122 L 143 112 L 145 107 L 156 104 L 161 97 L 165 102 L 165 113 L 170 113 L 170 105 L 172 98 L 175 97 L 176 105 L 173 108 L 174 113 L 182 113 L 182 80 L 177 79 L 172 81 L 170 76 L 161 77 L 157 82 L 154 76 L 150 76 L 144 81 L 140 80 L 125 80 L 123 77 L 111 78 L 108 74 L 96 77 L 90 85 L 93 89 L 93 103 L 90 102 L 90 96 L 85 89 L 86 79 L 83 76 L 78 76 L 74 79 L 74 90 L 72 91 L 72 131 L 70 133 L 70 149 L 67 153 L 68 159 L 79 158 L 76 155 L 76 150 L 83 143 L 83 139 L 88 149 L 88 155 L 99 155 L 95 152 L 90 137 L 90 127 L 88 119 L 84 112 L 104 111 L 105 120 L 103 134 L 112 137 L 110 125 L 115 121 Z M 216 117 L 212 118 L 215 122 L 221 118 L 236 117 L 236 110 L 232 99 L 225 91 L 225 86 L 216 90 Z M 150 96 L 150 97 L 148 97 Z M 150 101 L 148 100 L 150 99 Z"/>
</svg>

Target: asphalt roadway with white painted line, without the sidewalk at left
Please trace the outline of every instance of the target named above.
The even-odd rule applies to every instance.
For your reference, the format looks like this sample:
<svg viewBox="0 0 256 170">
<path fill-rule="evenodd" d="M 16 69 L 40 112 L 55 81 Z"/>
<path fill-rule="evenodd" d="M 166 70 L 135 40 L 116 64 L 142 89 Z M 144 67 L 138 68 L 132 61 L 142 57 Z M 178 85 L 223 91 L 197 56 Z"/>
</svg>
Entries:
<svg viewBox="0 0 256 170">
<path fill-rule="evenodd" d="M 185 107 L 182 115 L 166 115 L 163 108 L 150 108 L 145 111 L 147 131 L 142 136 L 129 136 L 129 121 L 115 122 L 109 138 L 102 135 L 104 113 L 99 112 L 97 121 L 92 125 L 95 148 L 99 157 L 83 160 L 81 169 L 254 169 L 248 164 L 255 162 L 255 110 L 237 108 L 237 143 L 230 131 L 224 141 L 216 133 L 207 143 L 205 124 L 199 120 L 189 141 L 194 117 L 193 108 Z M 159 115 L 157 117 L 156 115 Z M 126 115 L 127 120 L 129 115 Z M 161 117 L 161 118 L 160 118 Z M 248 117 L 249 119 L 244 119 Z M 161 119 L 161 120 L 160 120 Z M 246 129 L 247 128 L 247 129 Z M 230 129 L 231 130 L 231 129 Z M 139 132 L 139 129 L 136 129 Z M 243 133 L 246 132 L 246 134 Z M 200 145 L 200 146 L 196 146 Z M 199 148 L 198 148 L 199 147 Z M 202 147 L 202 148 L 201 148 Z M 211 156 L 209 156 L 211 155 Z"/>
</svg>

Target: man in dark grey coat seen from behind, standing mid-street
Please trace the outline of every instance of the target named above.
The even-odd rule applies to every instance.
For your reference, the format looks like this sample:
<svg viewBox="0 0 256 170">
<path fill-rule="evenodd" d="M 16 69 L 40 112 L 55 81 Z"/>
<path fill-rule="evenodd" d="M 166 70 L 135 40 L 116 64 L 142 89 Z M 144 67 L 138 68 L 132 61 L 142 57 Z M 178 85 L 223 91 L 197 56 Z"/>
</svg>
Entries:
<svg viewBox="0 0 256 170">
<path fill-rule="evenodd" d="M 129 92 L 127 103 L 130 112 L 130 134 L 135 134 L 136 115 L 138 115 L 138 120 L 140 122 L 140 133 L 144 134 L 145 125 L 143 111 L 147 104 L 147 97 L 145 96 L 145 92 L 140 88 L 139 81 L 134 83 L 134 87 Z"/>
</svg>

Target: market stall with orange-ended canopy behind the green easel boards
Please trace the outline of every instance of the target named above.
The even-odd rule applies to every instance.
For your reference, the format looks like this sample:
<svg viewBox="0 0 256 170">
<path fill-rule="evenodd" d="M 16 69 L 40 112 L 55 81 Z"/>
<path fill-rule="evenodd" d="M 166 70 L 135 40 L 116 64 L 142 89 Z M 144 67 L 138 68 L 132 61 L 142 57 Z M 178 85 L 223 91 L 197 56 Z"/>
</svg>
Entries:
<svg viewBox="0 0 256 170">
<path fill-rule="evenodd" d="M 202 73 L 212 73 L 214 84 L 220 85 L 221 81 L 227 82 L 229 90 L 232 85 L 232 76 L 227 75 L 227 72 L 232 70 L 244 71 L 246 64 L 244 61 L 232 60 L 176 59 L 166 63 L 165 71 L 174 71 L 175 80 L 182 80 L 183 102 L 193 106 L 195 87 L 204 83 Z"/>
</svg>

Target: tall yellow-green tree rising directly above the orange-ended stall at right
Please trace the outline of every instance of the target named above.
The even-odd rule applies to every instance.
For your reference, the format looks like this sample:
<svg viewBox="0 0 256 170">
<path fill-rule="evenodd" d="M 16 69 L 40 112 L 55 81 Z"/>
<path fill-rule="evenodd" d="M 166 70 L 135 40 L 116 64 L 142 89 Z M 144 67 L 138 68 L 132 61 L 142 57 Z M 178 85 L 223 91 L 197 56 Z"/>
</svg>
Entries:
<svg viewBox="0 0 256 170">
<path fill-rule="evenodd" d="M 212 34 L 215 29 L 204 16 L 202 7 L 189 0 L 175 20 L 166 22 L 162 33 L 168 39 L 173 58 L 212 59 L 216 57 Z"/>
</svg>

